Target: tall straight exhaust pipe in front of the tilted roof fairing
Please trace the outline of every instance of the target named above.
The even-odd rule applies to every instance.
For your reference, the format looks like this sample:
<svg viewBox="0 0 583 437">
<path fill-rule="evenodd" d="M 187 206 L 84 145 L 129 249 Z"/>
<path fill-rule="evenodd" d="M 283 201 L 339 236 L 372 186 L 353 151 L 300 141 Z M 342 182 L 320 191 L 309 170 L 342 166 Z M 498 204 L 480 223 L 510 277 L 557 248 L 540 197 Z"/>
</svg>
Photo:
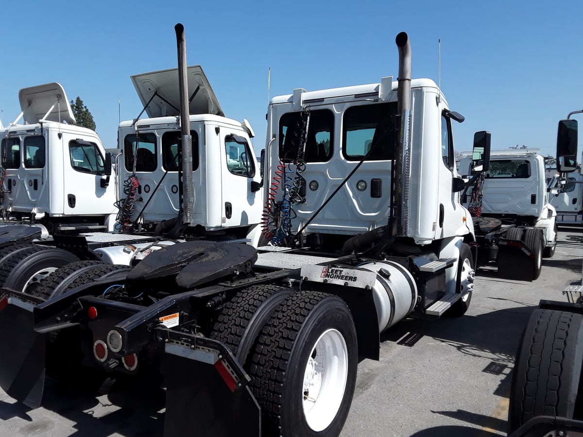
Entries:
<svg viewBox="0 0 583 437">
<path fill-rule="evenodd" d="M 194 216 L 194 184 L 192 182 L 192 136 L 190 135 L 190 111 L 186 64 L 186 39 L 184 26 L 178 23 L 176 45 L 178 52 L 178 89 L 180 92 L 181 153 L 178 154 L 178 196 L 180 213 L 177 226 L 192 223 Z"/>
</svg>

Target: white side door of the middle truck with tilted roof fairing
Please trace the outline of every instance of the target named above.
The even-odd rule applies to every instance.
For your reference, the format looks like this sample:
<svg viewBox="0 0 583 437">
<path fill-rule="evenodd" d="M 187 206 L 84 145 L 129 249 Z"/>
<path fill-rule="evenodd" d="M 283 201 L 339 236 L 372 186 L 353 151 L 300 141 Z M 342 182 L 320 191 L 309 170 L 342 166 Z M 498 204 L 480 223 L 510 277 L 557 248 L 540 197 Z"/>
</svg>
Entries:
<svg viewBox="0 0 583 437">
<path fill-rule="evenodd" d="M 223 132 L 226 132 L 223 135 Z M 261 191 L 251 191 L 251 181 L 261 181 L 259 168 L 243 132 L 221 129 L 223 226 L 235 227 L 261 221 Z M 212 199 L 209 199 L 209 202 Z"/>
</svg>

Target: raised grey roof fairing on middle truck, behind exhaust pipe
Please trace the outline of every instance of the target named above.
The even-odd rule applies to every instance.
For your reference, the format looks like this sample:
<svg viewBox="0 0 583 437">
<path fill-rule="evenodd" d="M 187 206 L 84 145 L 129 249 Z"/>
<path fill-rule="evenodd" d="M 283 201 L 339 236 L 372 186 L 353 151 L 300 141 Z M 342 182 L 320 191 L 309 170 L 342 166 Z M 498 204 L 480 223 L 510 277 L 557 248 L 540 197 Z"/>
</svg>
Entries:
<svg viewBox="0 0 583 437">
<path fill-rule="evenodd" d="M 224 116 L 220 107 L 219 100 L 215 96 L 215 91 L 210 87 L 205 72 L 200 65 L 187 67 L 188 78 L 188 98 L 190 114 L 214 114 Z M 166 99 L 171 105 L 168 105 L 163 98 L 158 96 L 146 108 L 146 114 L 150 118 L 156 117 L 173 117 L 180 115 L 180 94 L 178 92 L 178 69 L 156 71 L 152 73 L 143 73 L 141 75 L 131 76 L 134 87 L 146 106 L 150 98 L 157 92 L 159 96 Z M 192 97 L 194 94 L 194 98 Z"/>
</svg>

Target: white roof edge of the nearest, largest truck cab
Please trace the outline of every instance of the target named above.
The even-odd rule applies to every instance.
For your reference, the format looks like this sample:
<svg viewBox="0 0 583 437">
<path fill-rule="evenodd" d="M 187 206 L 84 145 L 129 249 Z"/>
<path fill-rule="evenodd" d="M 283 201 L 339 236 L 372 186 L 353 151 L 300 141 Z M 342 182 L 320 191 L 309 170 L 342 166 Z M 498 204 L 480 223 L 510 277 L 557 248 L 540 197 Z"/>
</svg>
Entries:
<svg viewBox="0 0 583 437">
<path fill-rule="evenodd" d="M 390 83 L 390 86 L 389 86 Z M 392 76 L 383 77 L 380 83 L 370 83 L 364 85 L 345 86 L 339 88 L 330 88 L 326 90 L 305 91 L 301 90 L 301 99 L 303 104 L 309 104 L 311 101 L 322 101 L 326 98 L 342 98 L 342 97 L 366 97 L 378 96 L 381 100 L 396 101 L 396 90 L 398 82 L 392 80 Z M 437 84 L 431 79 L 412 79 L 411 89 L 415 88 L 434 88 L 438 92 Z M 295 91 L 295 90 L 294 90 Z M 390 91 L 394 91 L 394 96 L 388 96 Z M 385 96 L 383 98 L 383 96 Z M 443 94 L 441 94 L 441 98 Z M 290 103 L 294 100 L 294 94 L 284 94 L 282 96 L 275 96 L 271 99 L 269 104 Z"/>
</svg>

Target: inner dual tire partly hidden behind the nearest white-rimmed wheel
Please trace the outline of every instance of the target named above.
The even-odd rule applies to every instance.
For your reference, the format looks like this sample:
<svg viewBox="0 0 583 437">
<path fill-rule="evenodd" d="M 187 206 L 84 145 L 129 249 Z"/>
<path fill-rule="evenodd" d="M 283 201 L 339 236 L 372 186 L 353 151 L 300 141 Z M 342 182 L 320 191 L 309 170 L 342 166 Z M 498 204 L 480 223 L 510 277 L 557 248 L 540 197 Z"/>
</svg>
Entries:
<svg viewBox="0 0 583 437">
<path fill-rule="evenodd" d="M 285 287 L 260 284 L 237 292 L 217 316 L 210 338 L 222 341 L 243 364 L 273 310 L 293 293 Z"/>
</svg>

